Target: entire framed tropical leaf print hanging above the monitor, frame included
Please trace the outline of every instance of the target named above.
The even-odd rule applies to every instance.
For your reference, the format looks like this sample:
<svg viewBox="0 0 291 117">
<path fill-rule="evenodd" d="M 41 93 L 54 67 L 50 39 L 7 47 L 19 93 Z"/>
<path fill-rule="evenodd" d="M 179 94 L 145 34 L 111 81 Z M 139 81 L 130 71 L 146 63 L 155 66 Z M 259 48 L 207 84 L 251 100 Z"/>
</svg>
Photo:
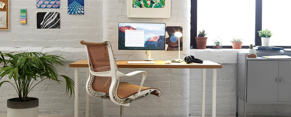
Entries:
<svg viewBox="0 0 291 117">
<path fill-rule="evenodd" d="M 127 18 L 170 18 L 171 0 L 127 0 Z"/>
</svg>

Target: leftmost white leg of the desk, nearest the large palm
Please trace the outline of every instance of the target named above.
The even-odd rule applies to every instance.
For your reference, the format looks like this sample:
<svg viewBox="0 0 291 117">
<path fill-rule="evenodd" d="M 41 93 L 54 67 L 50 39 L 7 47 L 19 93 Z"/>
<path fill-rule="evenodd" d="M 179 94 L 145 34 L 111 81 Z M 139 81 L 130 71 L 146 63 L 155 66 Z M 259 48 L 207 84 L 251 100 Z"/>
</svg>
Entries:
<svg viewBox="0 0 291 117">
<path fill-rule="evenodd" d="M 74 108 L 74 116 L 78 117 L 79 115 L 79 103 L 78 103 L 78 74 L 79 74 L 79 68 L 75 68 L 75 108 Z"/>
</svg>

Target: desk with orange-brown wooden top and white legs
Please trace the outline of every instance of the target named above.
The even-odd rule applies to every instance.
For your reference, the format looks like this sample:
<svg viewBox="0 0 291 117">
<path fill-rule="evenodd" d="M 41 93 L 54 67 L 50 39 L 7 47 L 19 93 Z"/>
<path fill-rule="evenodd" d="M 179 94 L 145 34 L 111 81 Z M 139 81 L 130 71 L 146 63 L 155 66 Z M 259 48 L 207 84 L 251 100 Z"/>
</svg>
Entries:
<svg viewBox="0 0 291 117">
<path fill-rule="evenodd" d="M 203 61 L 203 64 L 191 63 L 172 63 L 165 64 L 165 61 L 155 61 L 155 64 L 127 64 L 128 60 L 117 60 L 118 68 L 200 68 L 202 72 L 202 117 L 205 116 L 205 79 L 206 69 L 213 69 L 212 83 L 212 116 L 216 116 L 216 69 L 222 68 L 221 64 L 212 61 Z M 130 60 L 131 61 L 131 60 Z M 75 117 L 78 117 L 78 68 L 89 67 L 88 60 L 80 60 L 69 64 L 69 67 L 75 68 Z M 89 71 L 87 70 L 87 78 Z M 86 117 L 89 116 L 89 95 L 86 93 Z"/>
</svg>

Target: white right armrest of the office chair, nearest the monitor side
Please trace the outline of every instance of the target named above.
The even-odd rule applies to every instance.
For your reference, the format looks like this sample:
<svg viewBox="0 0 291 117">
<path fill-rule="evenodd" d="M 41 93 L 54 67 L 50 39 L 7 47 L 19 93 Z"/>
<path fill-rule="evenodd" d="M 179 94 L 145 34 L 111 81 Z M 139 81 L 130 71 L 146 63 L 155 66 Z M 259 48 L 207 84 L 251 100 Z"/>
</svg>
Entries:
<svg viewBox="0 0 291 117">
<path fill-rule="evenodd" d="M 144 82 L 145 78 L 147 78 L 147 72 L 146 71 L 133 71 L 133 72 L 124 74 L 124 73 L 121 73 L 120 71 L 117 71 L 117 73 L 116 73 L 117 77 L 121 77 L 121 76 L 132 76 L 132 75 L 135 75 L 135 74 L 138 74 L 138 73 L 142 73 L 142 79 L 141 79 L 141 82 L 140 82 L 140 85 L 139 85 L 139 88 L 138 88 L 138 91 L 137 91 L 137 94 L 135 95 L 135 97 L 138 97 L 139 96 L 139 92 L 141 90 L 141 87 L 143 85 L 143 82 Z"/>
</svg>

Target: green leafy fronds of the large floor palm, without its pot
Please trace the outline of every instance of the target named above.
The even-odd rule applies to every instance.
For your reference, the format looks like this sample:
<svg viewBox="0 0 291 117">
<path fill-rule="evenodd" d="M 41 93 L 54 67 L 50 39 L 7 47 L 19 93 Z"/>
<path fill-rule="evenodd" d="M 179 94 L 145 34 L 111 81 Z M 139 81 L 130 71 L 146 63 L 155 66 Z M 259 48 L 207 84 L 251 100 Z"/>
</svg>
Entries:
<svg viewBox="0 0 291 117">
<path fill-rule="evenodd" d="M 19 98 L 24 101 L 27 99 L 29 92 L 40 82 L 48 79 L 62 82 L 58 77 L 65 78 L 66 94 L 70 96 L 74 93 L 74 81 L 65 75 L 59 75 L 55 65 L 64 66 L 64 58 L 56 55 L 48 55 L 40 52 L 23 52 L 23 53 L 2 53 L 0 51 L 0 80 L 8 75 L 9 79 L 14 78 L 15 85 L 9 81 L 16 89 Z M 7 57 L 8 59 L 5 59 Z M 36 82 L 35 82 L 36 81 Z"/>
</svg>

